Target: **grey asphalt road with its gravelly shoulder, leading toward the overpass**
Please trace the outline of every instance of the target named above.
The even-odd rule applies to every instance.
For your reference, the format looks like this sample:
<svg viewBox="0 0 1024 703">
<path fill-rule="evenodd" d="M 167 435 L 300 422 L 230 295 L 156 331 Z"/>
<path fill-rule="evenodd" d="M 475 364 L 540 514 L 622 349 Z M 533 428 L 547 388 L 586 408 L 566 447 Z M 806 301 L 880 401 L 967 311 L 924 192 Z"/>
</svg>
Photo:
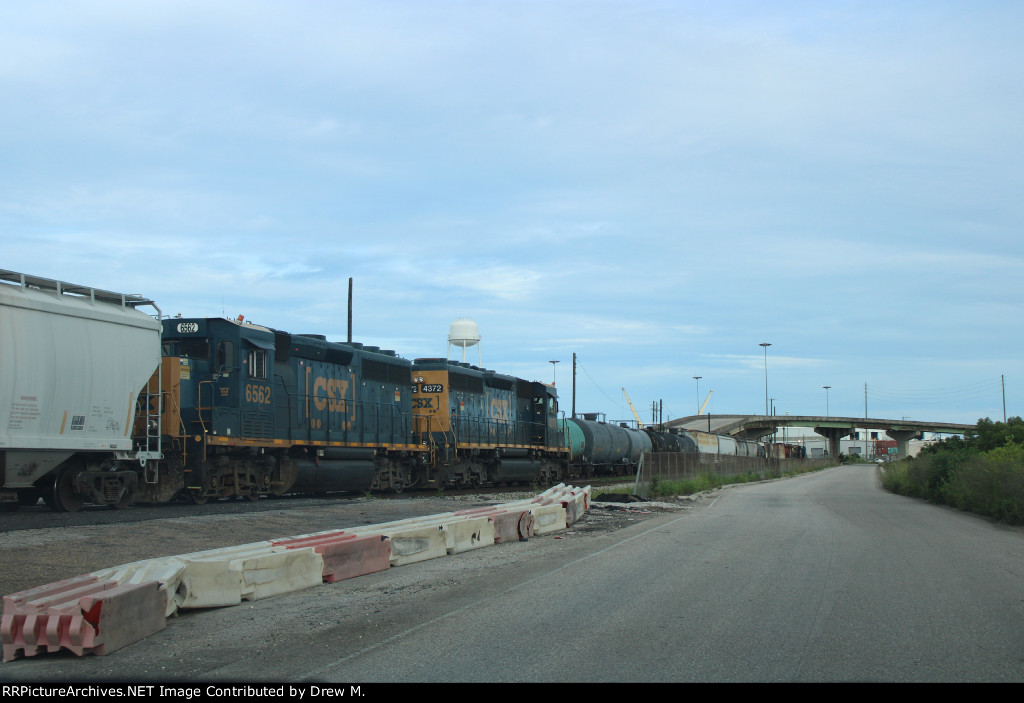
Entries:
<svg viewBox="0 0 1024 703">
<path fill-rule="evenodd" d="M 873 466 L 196 612 L 17 680 L 1024 680 L 1024 530 Z"/>
</svg>

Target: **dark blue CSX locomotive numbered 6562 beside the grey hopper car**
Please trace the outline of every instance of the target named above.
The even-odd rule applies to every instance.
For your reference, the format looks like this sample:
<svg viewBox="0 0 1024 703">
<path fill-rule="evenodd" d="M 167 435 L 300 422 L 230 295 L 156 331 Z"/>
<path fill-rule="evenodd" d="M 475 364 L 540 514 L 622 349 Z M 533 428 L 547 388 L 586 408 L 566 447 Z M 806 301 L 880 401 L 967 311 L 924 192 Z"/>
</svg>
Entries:
<svg viewBox="0 0 1024 703">
<path fill-rule="evenodd" d="M 163 321 L 162 479 L 137 500 L 401 490 L 425 473 L 411 362 L 242 319 Z"/>
</svg>

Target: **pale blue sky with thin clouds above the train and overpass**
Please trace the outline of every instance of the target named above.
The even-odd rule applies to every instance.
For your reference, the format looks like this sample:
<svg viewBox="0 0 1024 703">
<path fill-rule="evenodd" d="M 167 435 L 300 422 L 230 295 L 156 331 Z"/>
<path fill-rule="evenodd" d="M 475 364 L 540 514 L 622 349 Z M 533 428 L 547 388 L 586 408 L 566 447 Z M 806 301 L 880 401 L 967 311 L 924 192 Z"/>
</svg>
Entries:
<svg viewBox="0 0 1024 703">
<path fill-rule="evenodd" d="M 0 268 L 341 342 L 352 278 L 355 341 L 440 357 L 468 317 L 467 361 L 570 412 L 574 354 L 609 421 L 624 389 L 644 422 L 710 391 L 1021 415 L 1022 28 L 1018 0 L 6 2 Z"/>
</svg>

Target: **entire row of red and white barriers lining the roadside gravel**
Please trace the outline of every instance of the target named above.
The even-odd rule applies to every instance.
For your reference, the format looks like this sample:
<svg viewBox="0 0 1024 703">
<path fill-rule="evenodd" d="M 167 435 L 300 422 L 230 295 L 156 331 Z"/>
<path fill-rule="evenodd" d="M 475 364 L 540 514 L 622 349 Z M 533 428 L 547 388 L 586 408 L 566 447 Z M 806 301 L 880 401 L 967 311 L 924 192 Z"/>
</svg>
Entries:
<svg viewBox="0 0 1024 703">
<path fill-rule="evenodd" d="M 108 654 L 166 626 L 179 608 L 270 598 L 392 566 L 565 529 L 590 487 L 559 484 L 522 500 L 143 560 L 3 599 L 3 659 L 65 649 Z"/>
</svg>

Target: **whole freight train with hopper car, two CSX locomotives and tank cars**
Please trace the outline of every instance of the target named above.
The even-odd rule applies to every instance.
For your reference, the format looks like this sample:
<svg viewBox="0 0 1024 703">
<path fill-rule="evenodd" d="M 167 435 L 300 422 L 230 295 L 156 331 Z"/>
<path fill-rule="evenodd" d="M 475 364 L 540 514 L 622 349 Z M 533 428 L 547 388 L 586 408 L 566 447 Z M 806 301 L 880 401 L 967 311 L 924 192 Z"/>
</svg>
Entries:
<svg viewBox="0 0 1024 703">
<path fill-rule="evenodd" d="M 0 269 L 4 510 L 551 484 L 645 451 L 764 445 L 566 419 L 554 385 Z"/>
</svg>

